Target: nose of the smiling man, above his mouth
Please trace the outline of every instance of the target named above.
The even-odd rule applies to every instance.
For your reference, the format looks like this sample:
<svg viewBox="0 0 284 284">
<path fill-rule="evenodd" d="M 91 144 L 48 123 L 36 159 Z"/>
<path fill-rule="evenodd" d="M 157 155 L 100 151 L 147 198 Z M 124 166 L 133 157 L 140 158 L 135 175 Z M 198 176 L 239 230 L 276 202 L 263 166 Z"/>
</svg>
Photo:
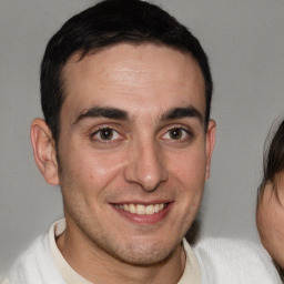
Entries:
<svg viewBox="0 0 284 284">
<path fill-rule="evenodd" d="M 160 183 L 169 179 L 162 150 L 153 142 L 136 143 L 129 153 L 125 180 L 141 185 L 145 191 L 154 191 Z"/>
</svg>

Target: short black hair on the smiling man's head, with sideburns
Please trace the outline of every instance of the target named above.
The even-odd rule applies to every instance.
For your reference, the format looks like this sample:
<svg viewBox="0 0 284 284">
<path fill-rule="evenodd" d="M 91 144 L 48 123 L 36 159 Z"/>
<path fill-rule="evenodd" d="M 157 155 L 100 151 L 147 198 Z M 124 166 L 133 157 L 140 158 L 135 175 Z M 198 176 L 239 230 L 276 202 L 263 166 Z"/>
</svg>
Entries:
<svg viewBox="0 0 284 284">
<path fill-rule="evenodd" d="M 129 10 L 130 3 L 133 4 L 133 11 Z M 133 26 L 128 26 L 130 23 Z M 206 53 L 194 34 L 155 4 L 139 0 L 104 0 L 70 18 L 47 45 L 41 63 L 41 105 L 55 144 L 60 136 L 59 120 L 67 93 L 62 75 L 67 62 L 77 52 L 81 52 L 81 58 L 84 58 L 120 43 L 152 43 L 191 54 L 204 80 L 204 118 L 207 128 L 213 82 Z"/>
</svg>

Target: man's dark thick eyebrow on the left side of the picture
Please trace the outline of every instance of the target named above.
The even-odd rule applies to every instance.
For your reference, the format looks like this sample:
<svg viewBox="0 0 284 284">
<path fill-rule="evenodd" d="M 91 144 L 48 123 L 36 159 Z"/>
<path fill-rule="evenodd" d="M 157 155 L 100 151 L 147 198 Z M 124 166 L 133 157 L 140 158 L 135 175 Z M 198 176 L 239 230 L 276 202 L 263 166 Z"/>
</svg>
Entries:
<svg viewBox="0 0 284 284">
<path fill-rule="evenodd" d="M 125 111 L 114 108 L 94 106 L 91 109 L 83 110 L 81 114 L 75 119 L 73 124 L 77 124 L 83 119 L 91 118 L 106 118 L 113 120 L 129 120 L 129 115 Z"/>
</svg>

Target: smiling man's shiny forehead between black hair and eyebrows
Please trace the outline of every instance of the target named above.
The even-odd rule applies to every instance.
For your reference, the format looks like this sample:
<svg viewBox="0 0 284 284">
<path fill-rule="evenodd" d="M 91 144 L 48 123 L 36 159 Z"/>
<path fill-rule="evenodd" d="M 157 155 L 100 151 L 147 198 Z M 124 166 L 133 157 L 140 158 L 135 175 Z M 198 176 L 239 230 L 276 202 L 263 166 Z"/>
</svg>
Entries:
<svg viewBox="0 0 284 284">
<path fill-rule="evenodd" d="M 95 53 L 74 54 L 63 68 L 65 111 L 94 105 L 132 113 L 194 104 L 205 112 L 205 88 L 190 55 L 163 45 L 119 44 Z"/>
</svg>

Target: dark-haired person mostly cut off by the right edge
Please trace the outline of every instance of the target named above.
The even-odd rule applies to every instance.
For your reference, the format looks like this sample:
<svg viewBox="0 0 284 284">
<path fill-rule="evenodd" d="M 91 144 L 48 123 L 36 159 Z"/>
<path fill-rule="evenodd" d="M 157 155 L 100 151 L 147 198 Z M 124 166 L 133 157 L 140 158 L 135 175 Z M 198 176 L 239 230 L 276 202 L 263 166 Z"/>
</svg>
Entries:
<svg viewBox="0 0 284 284">
<path fill-rule="evenodd" d="M 284 280 L 284 120 L 272 135 L 263 165 L 256 211 L 257 229 L 264 247 Z"/>
</svg>

